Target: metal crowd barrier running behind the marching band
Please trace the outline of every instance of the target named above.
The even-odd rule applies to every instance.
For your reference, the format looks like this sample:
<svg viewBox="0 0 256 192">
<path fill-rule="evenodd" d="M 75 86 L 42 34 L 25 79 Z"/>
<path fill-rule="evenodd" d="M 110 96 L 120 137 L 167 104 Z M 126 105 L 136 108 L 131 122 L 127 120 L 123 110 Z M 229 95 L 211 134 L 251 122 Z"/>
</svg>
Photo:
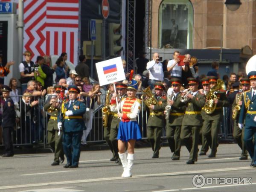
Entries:
<svg viewBox="0 0 256 192">
<path fill-rule="evenodd" d="M 137 98 L 140 98 L 142 93 L 137 93 Z M 44 105 L 45 101 L 41 97 L 37 97 L 39 105 L 36 105 L 33 111 L 26 111 L 26 114 L 22 109 L 26 104 L 22 102 L 22 96 L 19 97 L 19 109 L 17 109 L 21 113 L 20 122 L 16 123 L 15 130 L 12 134 L 12 139 L 14 145 L 32 145 L 32 144 L 38 144 L 41 143 L 41 145 L 46 148 L 47 147 L 47 122 L 49 119 L 49 115 L 47 115 L 47 112 L 44 111 Z M 32 96 L 34 97 L 34 96 Z M 3 98 L 0 98 L 3 99 Z M 23 105 L 23 106 L 22 106 Z M 105 95 L 101 95 L 101 105 L 95 105 L 93 113 L 87 113 L 89 117 L 91 118 L 91 114 L 93 115 L 92 119 L 92 129 L 87 137 L 87 143 L 97 143 L 97 142 L 104 142 L 103 133 L 104 133 L 104 127 L 102 124 L 102 107 L 105 105 Z M 143 105 L 142 104 L 142 110 L 139 113 L 139 116 L 137 117 L 138 124 L 140 125 L 140 130 L 142 133 L 143 139 L 146 139 L 146 129 L 147 129 L 147 121 L 148 121 L 148 115 L 149 110 L 143 111 Z M 230 118 L 228 114 L 228 108 L 224 108 L 223 110 L 223 120 L 221 122 L 221 128 L 219 131 L 219 138 L 221 140 L 232 140 L 232 128 L 230 128 Z M 1 110 L 0 113 L 3 112 L 3 103 L 1 104 Z M 86 120 L 84 119 L 86 122 Z M 166 131 L 165 131 L 165 123 L 163 126 L 163 135 L 162 137 L 166 137 Z M 90 125 L 87 125 L 88 128 Z"/>
</svg>

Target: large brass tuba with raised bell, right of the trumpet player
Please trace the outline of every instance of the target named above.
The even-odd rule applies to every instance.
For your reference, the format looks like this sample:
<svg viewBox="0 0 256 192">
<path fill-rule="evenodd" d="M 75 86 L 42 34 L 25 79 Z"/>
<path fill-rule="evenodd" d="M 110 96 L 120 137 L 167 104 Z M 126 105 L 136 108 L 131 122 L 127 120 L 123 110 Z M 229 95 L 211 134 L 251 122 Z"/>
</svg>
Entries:
<svg viewBox="0 0 256 192">
<path fill-rule="evenodd" d="M 206 95 L 206 99 L 208 100 L 208 102 L 205 102 L 204 104 L 204 111 L 208 115 L 212 114 L 215 111 L 215 108 L 217 106 L 217 104 L 215 104 L 215 100 L 218 99 L 215 95 L 215 91 L 220 89 L 225 89 L 225 83 L 221 79 L 218 79 L 217 84 L 212 87 Z"/>
</svg>

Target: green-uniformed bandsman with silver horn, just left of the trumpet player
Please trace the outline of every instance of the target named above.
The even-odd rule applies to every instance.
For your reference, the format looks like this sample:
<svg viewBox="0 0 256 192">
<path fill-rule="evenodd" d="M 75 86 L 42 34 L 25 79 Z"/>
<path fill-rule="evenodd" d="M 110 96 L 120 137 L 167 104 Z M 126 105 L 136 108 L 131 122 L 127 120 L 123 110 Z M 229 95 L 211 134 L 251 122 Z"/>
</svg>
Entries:
<svg viewBox="0 0 256 192">
<path fill-rule="evenodd" d="M 180 160 L 180 131 L 184 112 L 186 107 L 180 107 L 180 87 L 181 80 L 177 78 L 171 79 L 172 88 L 169 88 L 167 91 L 167 105 L 171 106 L 169 119 L 166 122 L 166 139 L 169 143 L 169 147 L 173 153 L 172 160 Z M 173 93 L 169 91 L 173 90 Z M 169 98 L 169 94 L 172 95 L 172 98 Z"/>
</svg>

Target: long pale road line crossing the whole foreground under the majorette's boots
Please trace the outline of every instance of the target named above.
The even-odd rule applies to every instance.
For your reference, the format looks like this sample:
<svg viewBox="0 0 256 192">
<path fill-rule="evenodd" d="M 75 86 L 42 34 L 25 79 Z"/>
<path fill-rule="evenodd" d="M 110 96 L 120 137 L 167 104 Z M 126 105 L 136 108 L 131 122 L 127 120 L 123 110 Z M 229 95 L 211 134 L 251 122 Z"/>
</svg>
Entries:
<svg viewBox="0 0 256 192">
<path fill-rule="evenodd" d="M 25 185 L 0 186 L 0 189 L 15 189 L 15 188 L 22 188 L 22 187 L 34 187 L 34 186 L 46 186 L 46 185 L 89 183 L 89 182 L 98 182 L 98 181 L 134 179 L 134 178 L 143 178 L 143 177 L 187 175 L 187 174 L 198 174 L 198 173 L 207 173 L 207 172 L 238 171 L 238 170 L 246 170 L 246 169 L 254 170 L 251 167 L 233 167 L 233 168 L 226 168 L 226 169 L 208 169 L 208 170 L 195 170 L 195 171 L 189 171 L 189 172 L 170 172 L 170 173 L 137 175 L 137 176 L 133 176 L 133 177 L 129 177 L 129 178 L 105 177 L 105 178 L 98 178 L 98 179 L 84 179 L 84 180 L 70 180 L 70 181 L 49 182 L 49 183 L 35 183 L 35 184 L 25 184 Z"/>
</svg>

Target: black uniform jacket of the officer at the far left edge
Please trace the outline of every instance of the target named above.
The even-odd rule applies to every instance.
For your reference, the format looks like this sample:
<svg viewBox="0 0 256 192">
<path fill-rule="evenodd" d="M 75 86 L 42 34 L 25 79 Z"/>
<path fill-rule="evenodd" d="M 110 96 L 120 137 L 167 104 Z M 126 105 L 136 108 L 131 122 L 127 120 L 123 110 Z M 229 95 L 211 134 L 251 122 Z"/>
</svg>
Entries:
<svg viewBox="0 0 256 192">
<path fill-rule="evenodd" d="M 6 101 L 3 104 L 3 115 L 2 115 L 2 127 L 14 127 L 15 125 L 15 109 L 14 109 L 14 103 L 10 97 L 6 99 Z"/>
</svg>

